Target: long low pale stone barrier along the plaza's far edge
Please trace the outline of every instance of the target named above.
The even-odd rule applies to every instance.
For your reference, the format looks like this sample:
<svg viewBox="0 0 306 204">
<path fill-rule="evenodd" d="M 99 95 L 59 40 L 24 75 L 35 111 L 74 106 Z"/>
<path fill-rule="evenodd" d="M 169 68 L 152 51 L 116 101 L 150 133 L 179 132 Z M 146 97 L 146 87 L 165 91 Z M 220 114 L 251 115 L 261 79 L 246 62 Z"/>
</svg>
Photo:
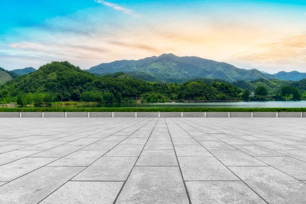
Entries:
<svg viewBox="0 0 306 204">
<path fill-rule="evenodd" d="M 306 112 L 0 112 L 0 118 L 110 118 L 110 117 L 198 117 L 198 118 L 306 118 Z"/>
</svg>

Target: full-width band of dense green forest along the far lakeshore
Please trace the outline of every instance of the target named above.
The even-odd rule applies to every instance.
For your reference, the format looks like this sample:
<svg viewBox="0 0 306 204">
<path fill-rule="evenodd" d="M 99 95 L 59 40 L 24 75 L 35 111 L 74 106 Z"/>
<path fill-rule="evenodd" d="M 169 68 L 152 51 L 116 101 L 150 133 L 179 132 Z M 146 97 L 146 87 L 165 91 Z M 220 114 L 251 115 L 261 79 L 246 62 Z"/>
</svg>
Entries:
<svg viewBox="0 0 306 204">
<path fill-rule="evenodd" d="M 143 77 L 143 76 L 142 76 Z M 152 77 L 147 74 L 147 77 Z M 251 93 L 255 95 L 250 97 Z M 227 82 L 193 79 L 184 83 L 149 82 L 116 72 L 95 75 L 69 62 L 52 62 L 37 71 L 14 76 L 0 85 L 0 104 L 52 104 L 55 101 L 143 103 L 169 100 L 300 100 L 306 99 L 306 79 L 299 82 L 258 79 Z"/>
</svg>

